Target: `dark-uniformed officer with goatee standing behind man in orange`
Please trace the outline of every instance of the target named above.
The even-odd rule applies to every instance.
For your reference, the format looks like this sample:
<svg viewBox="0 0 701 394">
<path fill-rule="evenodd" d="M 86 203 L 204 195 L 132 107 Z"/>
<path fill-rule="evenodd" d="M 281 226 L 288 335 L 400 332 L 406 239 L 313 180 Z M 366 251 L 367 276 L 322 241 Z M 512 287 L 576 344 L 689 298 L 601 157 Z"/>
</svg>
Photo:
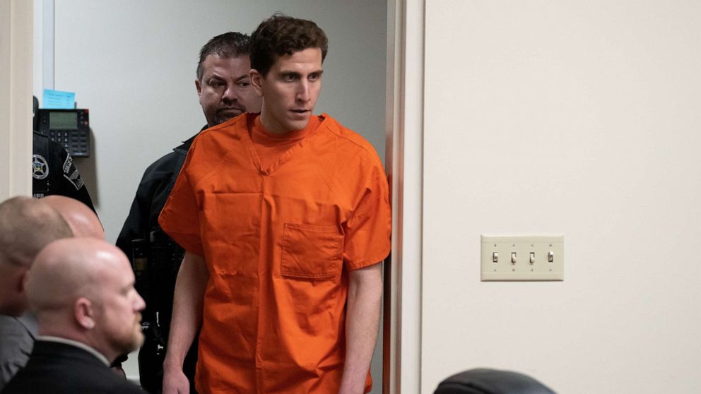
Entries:
<svg viewBox="0 0 701 394">
<path fill-rule="evenodd" d="M 261 98 L 250 86 L 248 44 L 248 35 L 227 32 L 201 48 L 195 87 L 207 124 L 200 131 L 244 112 L 260 112 Z M 160 229 L 158 215 L 194 138 L 148 166 L 117 239 L 117 246 L 131 258 L 137 289 L 146 299 L 142 320 L 146 338 L 139 352 L 139 374 L 141 387 L 150 393 L 161 392 L 175 278 L 184 255 L 183 249 Z M 144 259 L 148 263 L 144 264 Z M 184 363 L 191 393 L 195 393 L 195 362 L 196 342 Z"/>
</svg>

